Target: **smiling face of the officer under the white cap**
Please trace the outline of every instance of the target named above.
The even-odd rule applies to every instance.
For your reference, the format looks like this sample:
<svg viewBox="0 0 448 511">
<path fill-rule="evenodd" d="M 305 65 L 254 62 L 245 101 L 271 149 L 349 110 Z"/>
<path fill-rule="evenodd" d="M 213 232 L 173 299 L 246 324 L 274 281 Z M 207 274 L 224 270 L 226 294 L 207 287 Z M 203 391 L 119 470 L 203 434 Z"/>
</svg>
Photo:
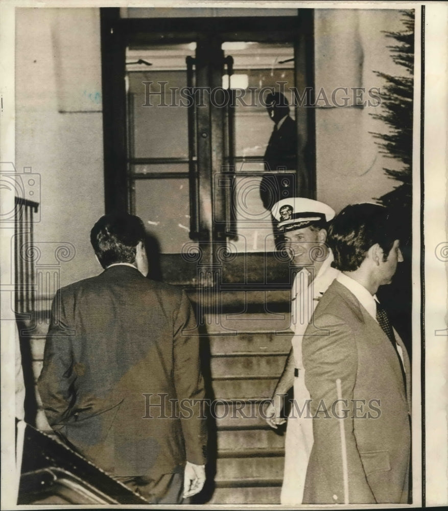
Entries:
<svg viewBox="0 0 448 511">
<path fill-rule="evenodd" d="M 325 229 L 303 227 L 285 233 L 286 248 L 291 251 L 293 263 L 310 266 L 326 258 Z"/>
</svg>

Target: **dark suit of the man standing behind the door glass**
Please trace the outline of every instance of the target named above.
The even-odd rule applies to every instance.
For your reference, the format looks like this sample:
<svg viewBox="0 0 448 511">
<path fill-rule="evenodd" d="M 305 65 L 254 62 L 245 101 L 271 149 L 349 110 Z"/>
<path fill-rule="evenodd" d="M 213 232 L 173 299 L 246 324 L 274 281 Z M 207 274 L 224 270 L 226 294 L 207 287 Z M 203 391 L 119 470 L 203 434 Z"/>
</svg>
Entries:
<svg viewBox="0 0 448 511">
<path fill-rule="evenodd" d="M 266 171 L 279 168 L 295 170 L 297 167 L 297 136 L 293 119 L 287 116 L 278 130 L 272 132 L 264 161 Z M 260 186 L 263 205 L 270 210 L 280 199 L 295 197 L 295 173 L 265 174 Z"/>
</svg>

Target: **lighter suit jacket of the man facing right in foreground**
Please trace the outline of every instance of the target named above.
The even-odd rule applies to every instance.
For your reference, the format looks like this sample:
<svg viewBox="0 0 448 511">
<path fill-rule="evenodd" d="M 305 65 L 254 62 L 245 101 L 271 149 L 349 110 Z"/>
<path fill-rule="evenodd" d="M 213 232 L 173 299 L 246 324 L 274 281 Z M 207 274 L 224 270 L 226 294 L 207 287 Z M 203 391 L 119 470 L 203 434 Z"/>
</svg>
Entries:
<svg viewBox="0 0 448 511">
<path fill-rule="evenodd" d="M 397 342 L 406 387 L 391 342 L 355 295 L 335 281 L 320 299 L 302 344 L 311 414 L 318 416 L 303 503 L 344 503 L 341 423 L 349 503 L 408 503 L 411 368 L 403 342 Z M 345 412 L 331 409 L 338 378 L 344 420 L 337 415 Z M 316 414 L 319 406 L 323 410 L 321 400 L 329 416 Z"/>
</svg>

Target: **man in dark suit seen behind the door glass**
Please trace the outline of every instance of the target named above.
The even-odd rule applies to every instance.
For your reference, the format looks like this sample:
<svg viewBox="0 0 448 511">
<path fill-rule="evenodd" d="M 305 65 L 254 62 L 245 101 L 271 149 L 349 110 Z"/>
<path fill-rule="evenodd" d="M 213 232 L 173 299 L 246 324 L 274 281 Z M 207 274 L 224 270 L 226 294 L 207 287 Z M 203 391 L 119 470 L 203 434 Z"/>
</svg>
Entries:
<svg viewBox="0 0 448 511">
<path fill-rule="evenodd" d="M 266 174 L 260 183 L 260 197 L 263 206 L 271 211 L 281 199 L 296 195 L 297 134 L 296 124 L 289 115 L 288 100 L 281 92 L 268 94 L 266 105 L 275 125 L 264 156 Z M 275 245 L 281 248 L 284 237 L 277 223 L 272 216 Z"/>
</svg>

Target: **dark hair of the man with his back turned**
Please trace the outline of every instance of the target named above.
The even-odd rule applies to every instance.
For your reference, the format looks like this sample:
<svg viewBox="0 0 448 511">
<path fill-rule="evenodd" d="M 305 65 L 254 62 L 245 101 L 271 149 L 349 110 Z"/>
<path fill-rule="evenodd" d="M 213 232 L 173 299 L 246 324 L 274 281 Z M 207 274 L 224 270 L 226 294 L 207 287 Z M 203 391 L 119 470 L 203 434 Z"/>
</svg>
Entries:
<svg viewBox="0 0 448 511">
<path fill-rule="evenodd" d="M 114 263 L 133 263 L 138 242 L 145 243 L 145 225 L 135 215 L 102 216 L 90 231 L 90 243 L 103 268 Z"/>
</svg>

